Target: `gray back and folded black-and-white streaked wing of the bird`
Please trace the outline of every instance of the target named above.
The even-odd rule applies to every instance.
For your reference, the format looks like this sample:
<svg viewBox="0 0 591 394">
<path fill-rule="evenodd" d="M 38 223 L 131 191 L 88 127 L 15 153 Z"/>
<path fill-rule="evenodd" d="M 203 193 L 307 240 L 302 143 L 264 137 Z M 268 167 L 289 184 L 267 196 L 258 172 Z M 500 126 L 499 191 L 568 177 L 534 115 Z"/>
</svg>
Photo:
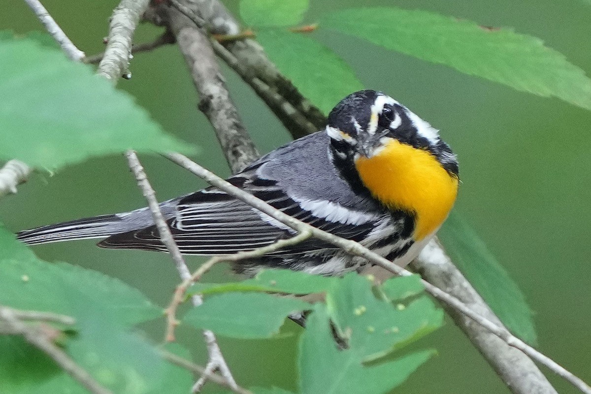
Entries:
<svg viewBox="0 0 591 394">
<path fill-rule="evenodd" d="M 316 133 L 262 157 L 228 181 L 284 213 L 347 239 L 361 240 L 374 229 L 384 210 L 356 195 L 330 162 L 328 139 Z M 168 220 L 182 253 L 220 255 L 252 250 L 294 235 L 294 230 L 216 188 L 169 201 Z M 165 250 L 155 226 L 113 235 L 99 246 Z M 307 240 L 288 250 L 333 249 Z"/>
</svg>

